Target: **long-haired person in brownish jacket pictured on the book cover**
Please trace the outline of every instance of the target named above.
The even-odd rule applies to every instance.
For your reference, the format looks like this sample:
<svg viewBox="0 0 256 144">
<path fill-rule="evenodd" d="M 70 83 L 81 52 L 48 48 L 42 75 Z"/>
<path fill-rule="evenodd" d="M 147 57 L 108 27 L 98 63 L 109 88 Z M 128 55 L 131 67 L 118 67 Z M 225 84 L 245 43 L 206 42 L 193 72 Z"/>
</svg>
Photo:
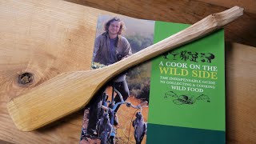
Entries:
<svg viewBox="0 0 256 144">
<path fill-rule="evenodd" d="M 130 43 L 125 37 L 122 36 L 124 31 L 124 22 L 120 18 L 111 18 L 105 24 L 105 32 L 100 34 L 94 43 L 94 54 L 93 62 L 98 62 L 103 65 L 111 65 L 115 62 L 120 61 L 123 58 L 126 58 L 132 54 Z M 129 97 L 129 89 L 126 82 L 126 74 L 120 74 L 118 77 L 112 80 L 112 85 L 122 94 L 124 101 Z M 105 87 L 106 88 L 106 87 Z M 102 104 L 102 94 L 105 90 L 98 91 L 98 94 L 92 99 L 90 103 L 89 111 L 89 122 L 87 127 L 87 134 L 94 135 L 94 130 L 96 128 L 96 122 L 99 118 L 99 110 Z M 117 95 L 114 98 L 115 102 L 120 102 L 120 98 Z M 119 108 L 119 106 L 118 106 Z M 116 112 L 118 108 L 114 111 L 114 125 L 118 125 L 118 118 Z"/>
</svg>

